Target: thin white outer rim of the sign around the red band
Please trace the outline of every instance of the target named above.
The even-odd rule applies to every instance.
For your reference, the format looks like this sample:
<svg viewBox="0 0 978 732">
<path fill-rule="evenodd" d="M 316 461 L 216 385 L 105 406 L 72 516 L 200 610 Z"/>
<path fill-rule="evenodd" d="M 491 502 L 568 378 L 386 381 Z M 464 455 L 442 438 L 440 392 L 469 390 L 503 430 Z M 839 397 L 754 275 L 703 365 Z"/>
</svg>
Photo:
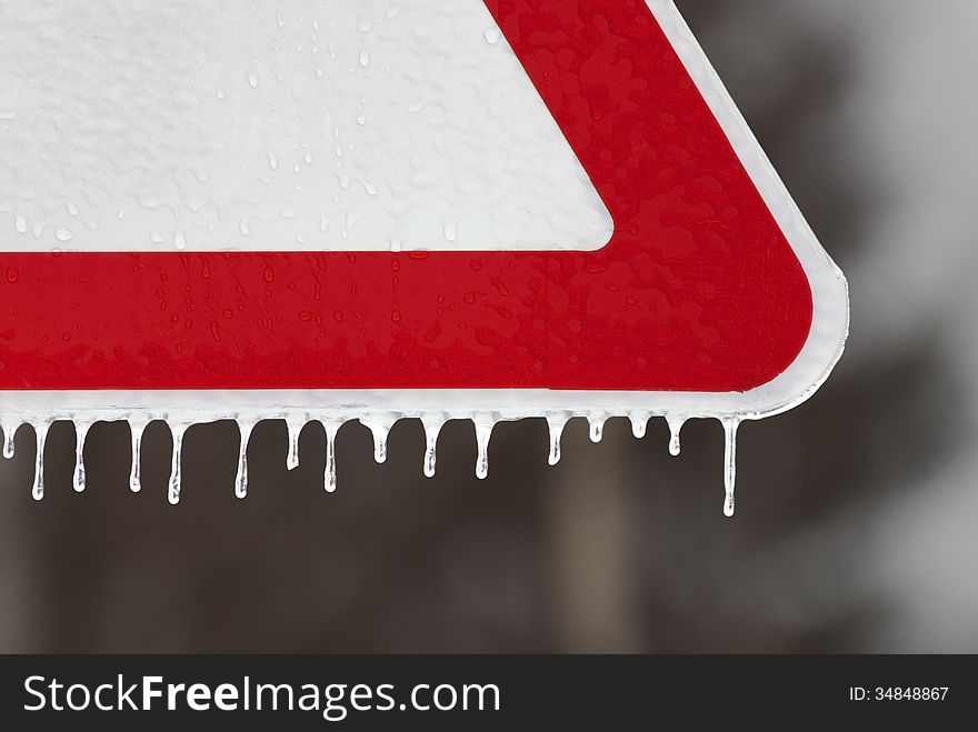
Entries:
<svg viewBox="0 0 978 732">
<path fill-rule="evenodd" d="M 556 391 L 545 389 L 6 391 L 4 423 L 70 419 L 87 423 L 154 419 L 174 424 L 305 417 L 342 423 L 360 418 L 390 424 L 402 418 L 471 419 L 478 423 L 532 417 L 632 420 L 758 420 L 810 398 L 842 354 L 849 330 L 848 285 L 819 244 L 760 143 L 672 0 L 646 0 L 727 134 L 740 162 L 784 231 L 811 287 L 811 331 L 796 360 L 774 380 L 746 392 Z"/>
</svg>

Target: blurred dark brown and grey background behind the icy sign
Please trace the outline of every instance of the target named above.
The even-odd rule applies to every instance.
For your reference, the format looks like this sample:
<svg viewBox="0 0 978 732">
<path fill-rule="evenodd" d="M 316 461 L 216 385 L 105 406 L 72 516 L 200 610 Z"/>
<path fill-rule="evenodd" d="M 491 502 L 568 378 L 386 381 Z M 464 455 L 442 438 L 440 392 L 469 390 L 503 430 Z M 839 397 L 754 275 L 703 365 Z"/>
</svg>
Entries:
<svg viewBox="0 0 978 732">
<path fill-rule="evenodd" d="M 357 422 L 337 440 L 263 422 L 246 501 L 238 432 L 193 428 L 166 500 L 170 435 L 56 424 L 48 493 L 33 434 L 0 461 L 3 652 L 978 651 L 978 3 L 680 0 L 761 144 L 849 279 L 852 333 L 801 408 L 740 431 L 723 518 L 722 429 L 682 454 L 653 420 L 493 432 L 473 475 L 469 423 L 439 441 L 402 421 L 385 464 Z"/>
</svg>

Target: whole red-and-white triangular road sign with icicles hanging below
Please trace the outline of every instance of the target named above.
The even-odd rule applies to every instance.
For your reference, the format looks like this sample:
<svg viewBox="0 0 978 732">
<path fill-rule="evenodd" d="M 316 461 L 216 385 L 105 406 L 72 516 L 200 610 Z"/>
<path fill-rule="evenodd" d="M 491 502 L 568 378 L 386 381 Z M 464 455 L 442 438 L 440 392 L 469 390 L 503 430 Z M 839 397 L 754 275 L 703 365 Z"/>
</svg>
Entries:
<svg viewBox="0 0 978 732">
<path fill-rule="evenodd" d="M 485 474 L 498 420 L 548 418 L 553 461 L 570 417 L 716 417 L 732 511 L 739 421 L 841 353 L 845 280 L 669 0 L 28 4 L 0 412 L 39 454 L 168 419 L 176 501 L 199 421 L 242 424 L 243 494 L 258 419 L 321 420 L 331 488 L 352 418 L 382 457 L 420 417 L 432 468 L 471 418 Z"/>
</svg>

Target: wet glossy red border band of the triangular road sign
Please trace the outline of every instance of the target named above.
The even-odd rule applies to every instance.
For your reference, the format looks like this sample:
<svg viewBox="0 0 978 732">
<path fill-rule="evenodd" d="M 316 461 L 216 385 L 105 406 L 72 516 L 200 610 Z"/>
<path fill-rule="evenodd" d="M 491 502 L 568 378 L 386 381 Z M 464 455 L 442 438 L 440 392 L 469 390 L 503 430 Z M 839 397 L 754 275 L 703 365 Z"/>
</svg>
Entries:
<svg viewBox="0 0 978 732">
<path fill-rule="evenodd" d="M 0 389 L 740 391 L 808 281 L 641 0 L 487 0 L 597 187 L 596 252 L 0 254 Z"/>
</svg>

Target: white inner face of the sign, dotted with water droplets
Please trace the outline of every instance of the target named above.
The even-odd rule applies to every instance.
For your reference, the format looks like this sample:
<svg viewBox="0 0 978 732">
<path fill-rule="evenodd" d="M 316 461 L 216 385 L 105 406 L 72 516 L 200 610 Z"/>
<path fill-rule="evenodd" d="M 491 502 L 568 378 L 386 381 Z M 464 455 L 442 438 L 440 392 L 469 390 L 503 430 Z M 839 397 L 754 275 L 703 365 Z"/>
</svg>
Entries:
<svg viewBox="0 0 978 732">
<path fill-rule="evenodd" d="M 0 2 L 13 251 L 598 249 L 481 0 Z"/>
</svg>

